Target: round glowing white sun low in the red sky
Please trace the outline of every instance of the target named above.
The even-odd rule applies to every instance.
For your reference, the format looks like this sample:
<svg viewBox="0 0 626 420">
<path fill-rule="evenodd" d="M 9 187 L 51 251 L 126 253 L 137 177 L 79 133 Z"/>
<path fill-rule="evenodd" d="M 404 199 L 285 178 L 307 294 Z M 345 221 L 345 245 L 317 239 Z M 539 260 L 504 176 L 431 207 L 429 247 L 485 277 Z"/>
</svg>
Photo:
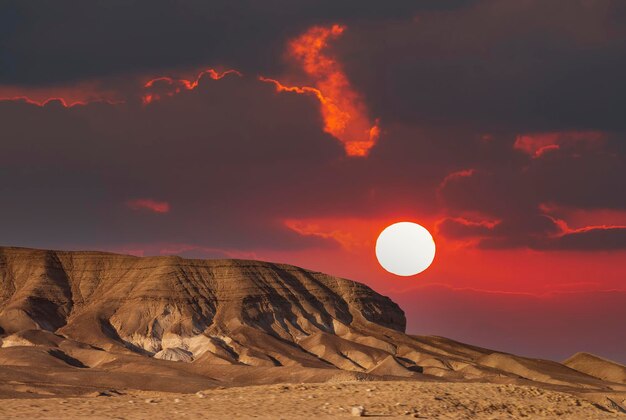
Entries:
<svg viewBox="0 0 626 420">
<path fill-rule="evenodd" d="M 417 223 L 394 223 L 378 236 L 376 258 L 392 274 L 414 276 L 432 264 L 435 241 L 430 232 Z"/>
</svg>

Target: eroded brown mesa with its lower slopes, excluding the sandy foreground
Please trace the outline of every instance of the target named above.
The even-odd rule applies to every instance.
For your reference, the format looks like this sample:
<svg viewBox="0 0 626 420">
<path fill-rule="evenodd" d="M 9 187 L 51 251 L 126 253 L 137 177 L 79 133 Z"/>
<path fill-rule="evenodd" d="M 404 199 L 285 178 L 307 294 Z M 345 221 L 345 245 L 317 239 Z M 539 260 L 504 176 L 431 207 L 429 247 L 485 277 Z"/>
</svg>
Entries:
<svg viewBox="0 0 626 420">
<path fill-rule="evenodd" d="M 541 386 L 624 411 L 619 364 L 405 326 L 369 287 L 285 264 L 0 248 L 0 397 L 402 379 Z"/>
</svg>

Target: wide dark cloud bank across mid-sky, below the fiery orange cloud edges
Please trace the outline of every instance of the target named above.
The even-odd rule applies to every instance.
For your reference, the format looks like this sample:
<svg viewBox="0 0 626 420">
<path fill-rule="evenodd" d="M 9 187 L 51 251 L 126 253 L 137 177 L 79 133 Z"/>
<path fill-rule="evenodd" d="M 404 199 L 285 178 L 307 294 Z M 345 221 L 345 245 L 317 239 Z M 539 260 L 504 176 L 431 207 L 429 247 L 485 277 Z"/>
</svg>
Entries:
<svg viewBox="0 0 626 420">
<path fill-rule="evenodd" d="M 623 229 L 562 232 L 541 209 L 572 196 L 580 208 L 624 209 L 624 157 L 611 146 L 618 135 L 596 149 L 563 145 L 533 158 L 514 149 L 512 134 L 485 140 L 471 127 L 393 125 L 370 157 L 346 158 L 322 131 L 313 97 L 235 75 L 203 78 L 147 106 L 4 101 L 0 122 L 0 180 L 10 198 L 0 228 L 11 244 L 336 246 L 297 235 L 283 220 L 443 208 L 452 218 L 439 233 L 482 248 L 624 247 Z M 606 170 L 610 158 L 617 163 Z M 598 169 L 586 173 L 590 187 L 571 185 L 588 165 Z M 137 211 L 133 200 L 168 211 Z M 462 219 L 468 213 L 485 219 Z"/>
</svg>

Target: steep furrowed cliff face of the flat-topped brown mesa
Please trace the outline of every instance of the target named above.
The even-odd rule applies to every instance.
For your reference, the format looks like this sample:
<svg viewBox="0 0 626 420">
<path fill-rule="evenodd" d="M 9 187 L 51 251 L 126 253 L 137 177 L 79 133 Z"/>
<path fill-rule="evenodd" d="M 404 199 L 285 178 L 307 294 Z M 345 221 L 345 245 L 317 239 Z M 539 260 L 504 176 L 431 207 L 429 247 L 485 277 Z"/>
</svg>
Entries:
<svg viewBox="0 0 626 420">
<path fill-rule="evenodd" d="M 2 248 L 0 285 L 5 334 L 45 330 L 168 360 L 319 366 L 300 342 L 406 323 L 363 284 L 260 261 Z"/>
</svg>

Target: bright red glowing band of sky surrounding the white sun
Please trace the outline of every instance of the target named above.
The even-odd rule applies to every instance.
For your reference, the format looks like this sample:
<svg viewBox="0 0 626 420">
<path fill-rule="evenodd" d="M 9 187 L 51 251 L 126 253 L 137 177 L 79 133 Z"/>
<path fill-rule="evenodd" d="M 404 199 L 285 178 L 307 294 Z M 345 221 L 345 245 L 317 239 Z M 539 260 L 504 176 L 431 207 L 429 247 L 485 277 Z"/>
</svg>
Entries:
<svg viewBox="0 0 626 420">
<path fill-rule="evenodd" d="M 554 291 L 624 289 L 625 252 L 598 252 L 590 257 L 579 251 L 531 249 L 476 249 L 440 235 L 440 219 L 424 216 L 288 219 L 284 225 L 302 236 L 334 240 L 338 247 L 303 251 L 259 251 L 259 257 L 286 262 L 334 275 L 364 281 L 381 292 L 409 290 L 442 284 L 502 293 L 540 296 Z M 399 279 L 377 263 L 374 245 L 380 232 L 399 221 L 426 227 L 437 245 L 433 264 L 415 277 Z M 471 223 L 471 222 L 470 222 Z M 492 225 L 496 221 L 477 222 Z M 593 228 L 599 228 L 595 226 Z"/>
</svg>

